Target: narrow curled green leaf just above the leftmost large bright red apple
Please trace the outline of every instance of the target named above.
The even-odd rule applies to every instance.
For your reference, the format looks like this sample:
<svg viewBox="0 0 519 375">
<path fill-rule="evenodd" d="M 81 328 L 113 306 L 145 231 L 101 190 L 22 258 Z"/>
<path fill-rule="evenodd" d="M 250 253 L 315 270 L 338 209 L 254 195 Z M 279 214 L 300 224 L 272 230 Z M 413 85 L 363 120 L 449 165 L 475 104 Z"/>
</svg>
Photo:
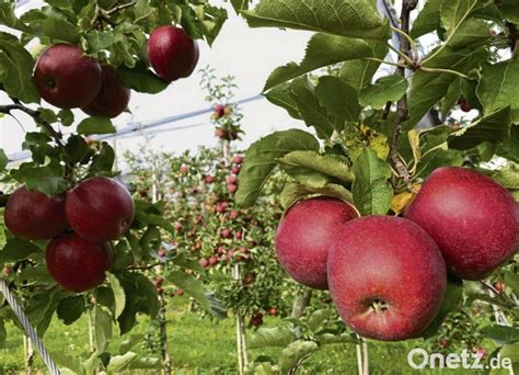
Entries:
<svg viewBox="0 0 519 375">
<path fill-rule="evenodd" d="M 353 203 L 351 193 L 343 185 L 328 183 L 323 188 L 311 188 L 298 183 L 288 183 L 281 193 L 281 205 L 288 211 L 299 201 L 315 196 L 330 196 L 339 201 Z"/>
</svg>

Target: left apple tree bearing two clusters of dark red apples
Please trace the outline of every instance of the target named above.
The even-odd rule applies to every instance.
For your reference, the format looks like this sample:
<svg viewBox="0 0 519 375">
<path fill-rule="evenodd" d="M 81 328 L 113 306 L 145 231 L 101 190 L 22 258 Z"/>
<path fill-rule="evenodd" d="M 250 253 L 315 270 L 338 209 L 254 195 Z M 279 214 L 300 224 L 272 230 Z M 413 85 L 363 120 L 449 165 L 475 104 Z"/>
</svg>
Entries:
<svg viewBox="0 0 519 375">
<path fill-rule="evenodd" d="M 72 325 L 93 318 L 95 348 L 84 357 L 51 353 L 62 368 L 157 368 L 161 361 L 111 348 L 136 325 L 155 317 L 158 292 L 147 277 L 163 238 L 176 230 L 164 204 L 132 198 L 114 169 L 115 151 L 100 135 L 116 133 L 112 120 L 127 110 L 130 90 L 159 94 L 187 78 L 198 61 L 198 41 L 218 36 L 226 10 L 208 1 L 48 0 L 18 15 L 16 1 L 0 4 L 0 113 L 35 130 L 25 134 L 30 160 L 8 167 L 0 150 L 5 245 L 0 263 L 9 291 L 20 300 L 37 336 L 54 314 Z M 194 298 L 211 309 L 196 262 L 172 259 L 168 283 L 193 285 Z M 195 269 L 195 270 L 193 270 Z M 2 281 L 3 283 L 3 281 Z M 4 323 L 22 328 L 2 298 Z"/>
</svg>

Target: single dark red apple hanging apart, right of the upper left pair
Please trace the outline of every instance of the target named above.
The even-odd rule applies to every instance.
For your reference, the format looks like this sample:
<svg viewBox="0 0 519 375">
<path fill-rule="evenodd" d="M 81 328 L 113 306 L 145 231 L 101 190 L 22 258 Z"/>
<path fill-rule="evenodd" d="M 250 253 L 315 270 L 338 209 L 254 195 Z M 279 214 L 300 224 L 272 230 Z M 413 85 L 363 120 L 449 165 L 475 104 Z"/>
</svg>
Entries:
<svg viewBox="0 0 519 375">
<path fill-rule="evenodd" d="M 159 77 L 172 82 L 189 77 L 198 63 L 196 41 L 175 26 L 155 29 L 148 41 L 148 60 Z"/>
</svg>

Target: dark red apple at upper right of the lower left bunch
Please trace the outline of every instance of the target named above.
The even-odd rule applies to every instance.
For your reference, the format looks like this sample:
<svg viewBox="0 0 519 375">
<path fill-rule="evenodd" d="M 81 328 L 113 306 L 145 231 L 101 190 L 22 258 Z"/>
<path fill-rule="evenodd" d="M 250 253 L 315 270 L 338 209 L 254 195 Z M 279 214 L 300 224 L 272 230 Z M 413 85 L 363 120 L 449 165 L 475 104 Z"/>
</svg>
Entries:
<svg viewBox="0 0 519 375">
<path fill-rule="evenodd" d="M 81 182 L 66 200 L 67 218 L 72 229 L 95 242 L 114 240 L 131 225 L 134 200 L 128 190 L 114 179 L 96 177 Z"/>
</svg>

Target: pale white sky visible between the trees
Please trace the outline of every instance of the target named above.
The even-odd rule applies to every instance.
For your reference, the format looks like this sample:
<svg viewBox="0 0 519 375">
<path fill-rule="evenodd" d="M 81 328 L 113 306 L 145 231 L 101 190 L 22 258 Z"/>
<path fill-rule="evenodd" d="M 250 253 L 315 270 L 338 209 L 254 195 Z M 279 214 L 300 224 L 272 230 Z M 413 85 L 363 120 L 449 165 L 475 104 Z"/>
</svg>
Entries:
<svg viewBox="0 0 519 375">
<path fill-rule="evenodd" d="M 218 3 L 218 1 L 216 1 Z M 37 7 L 39 1 L 30 1 L 28 7 Z M 199 43 L 200 60 L 197 69 L 210 66 L 218 76 L 235 76 L 237 100 L 257 95 L 262 92 L 268 75 L 278 66 L 291 60 L 299 61 L 311 33 L 298 31 L 281 31 L 277 29 L 250 29 L 243 19 L 237 16 L 231 7 L 222 3 L 229 11 L 229 20 L 224 24 L 219 37 L 209 47 L 205 42 Z M 19 12 L 24 12 L 22 7 Z M 165 91 L 150 95 L 132 92 L 129 110 L 131 114 L 123 114 L 114 121 L 117 128 L 124 128 L 129 123 L 150 122 L 186 112 L 208 109 L 211 103 L 205 101 L 206 92 L 200 89 L 200 73 L 196 71 L 192 77 L 173 82 Z M 2 104 L 7 98 L 0 98 Z M 48 104 L 45 104 L 48 105 Z M 304 128 L 288 114 L 270 104 L 265 99 L 242 105 L 243 129 L 245 136 L 238 147 L 246 148 L 251 143 L 273 130 L 291 127 Z M 77 118 L 82 113 L 76 110 Z M 205 124 L 194 128 L 159 133 L 151 140 L 150 146 L 164 151 L 182 152 L 185 149 L 196 150 L 198 146 L 214 146 L 218 140 L 214 136 L 214 126 L 210 124 L 210 114 L 188 118 L 168 125 L 169 127 L 184 127 L 193 124 Z M 14 120 L 1 118 L 0 148 L 8 155 L 21 151 L 24 132 L 35 129 L 32 120 L 24 114 L 16 113 Z M 64 133 L 70 132 L 65 128 Z M 117 150 L 126 149 L 138 152 L 143 145 L 143 136 L 117 140 Z"/>
</svg>

